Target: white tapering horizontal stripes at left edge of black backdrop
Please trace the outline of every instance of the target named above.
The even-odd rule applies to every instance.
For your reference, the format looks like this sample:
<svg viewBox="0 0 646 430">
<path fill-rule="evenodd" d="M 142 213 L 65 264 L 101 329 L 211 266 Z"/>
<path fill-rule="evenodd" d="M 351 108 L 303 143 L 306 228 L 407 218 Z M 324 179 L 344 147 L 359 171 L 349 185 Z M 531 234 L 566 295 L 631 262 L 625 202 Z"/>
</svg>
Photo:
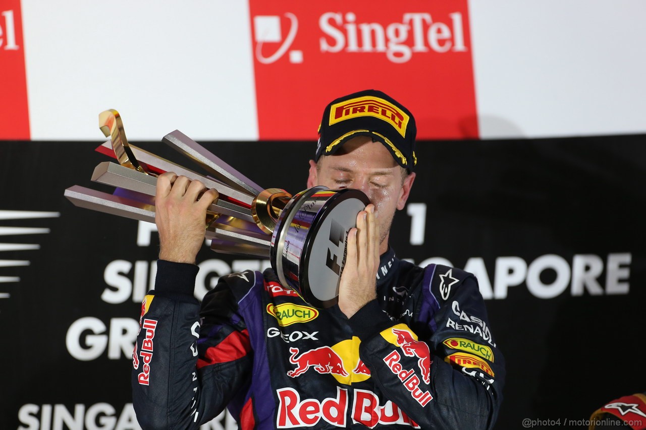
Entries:
<svg viewBox="0 0 646 430">
<path fill-rule="evenodd" d="M 57 218 L 60 216 L 59 212 L 36 212 L 24 210 L 0 210 L 0 221 L 6 220 L 28 220 L 40 218 Z M 45 227 L 15 227 L 15 226 L 2 226 L 0 225 L 0 236 L 23 236 L 26 234 L 47 234 L 50 232 Z M 4 242 L 0 239 L 0 252 L 11 251 L 30 251 L 40 249 L 38 243 L 17 243 L 17 242 Z M 6 255 L 6 254 L 5 254 Z M 2 254 L 0 254 L 1 258 Z M 0 268 L 6 267 L 19 267 L 30 265 L 29 260 L 1 260 Z M 4 271 L 4 269 L 3 269 Z M 0 276 L 0 283 L 19 282 L 19 276 Z M 9 298 L 10 293 L 0 292 L 0 298 Z"/>
</svg>

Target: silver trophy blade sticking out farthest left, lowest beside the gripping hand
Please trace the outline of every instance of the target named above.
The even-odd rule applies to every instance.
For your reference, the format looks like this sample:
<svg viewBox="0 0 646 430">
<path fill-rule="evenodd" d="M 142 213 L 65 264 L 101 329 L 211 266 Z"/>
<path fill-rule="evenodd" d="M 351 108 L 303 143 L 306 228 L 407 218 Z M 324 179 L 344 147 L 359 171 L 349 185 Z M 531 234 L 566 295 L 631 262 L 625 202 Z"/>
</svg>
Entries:
<svg viewBox="0 0 646 430">
<path fill-rule="evenodd" d="M 65 190 L 65 197 L 75 206 L 98 210 L 106 214 L 123 216 L 132 220 L 155 222 L 154 206 L 107 192 L 74 185 Z"/>
</svg>

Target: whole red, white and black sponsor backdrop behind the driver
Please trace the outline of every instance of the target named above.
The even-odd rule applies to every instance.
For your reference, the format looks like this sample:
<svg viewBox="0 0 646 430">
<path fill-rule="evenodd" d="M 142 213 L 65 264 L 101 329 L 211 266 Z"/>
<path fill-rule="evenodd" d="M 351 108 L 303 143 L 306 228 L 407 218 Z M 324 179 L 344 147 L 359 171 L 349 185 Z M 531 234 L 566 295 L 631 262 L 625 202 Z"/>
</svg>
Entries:
<svg viewBox="0 0 646 430">
<path fill-rule="evenodd" d="M 99 112 L 118 110 L 138 147 L 193 168 L 161 143 L 178 129 L 295 194 L 324 106 L 366 88 L 417 119 L 391 245 L 479 280 L 507 361 L 496 428 L 587 420 L 646 391 L 645 13 L 637 0 L 0 0 L 0 428 L 139 428 L 130 355 L 156 230 L 63 197 L 110 190 L 90 181 L 110 159 L 95 151 Z M 269 263 L 205 246 L 198 264 L 201 298 Z"/>
</svg>

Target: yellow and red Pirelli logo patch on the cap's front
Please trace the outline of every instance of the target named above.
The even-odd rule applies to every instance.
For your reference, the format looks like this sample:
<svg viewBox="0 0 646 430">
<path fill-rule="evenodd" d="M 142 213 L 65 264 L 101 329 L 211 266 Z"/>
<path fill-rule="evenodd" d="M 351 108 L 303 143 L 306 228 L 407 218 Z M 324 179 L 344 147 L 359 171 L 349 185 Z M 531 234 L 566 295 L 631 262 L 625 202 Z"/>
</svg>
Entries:
<svg viewBox="0 0 646 430">
<path fill-rule="evenodd" d="M 406 127 L 408 127 L 410 117 L 390 101 L 380 97 L 356 97 L 333 104 L 329 110 L 329 125 L 360 116 L 373 116 L 382 119 L 395 127 L 402 138 L 406 136 Z"/>
</svg>

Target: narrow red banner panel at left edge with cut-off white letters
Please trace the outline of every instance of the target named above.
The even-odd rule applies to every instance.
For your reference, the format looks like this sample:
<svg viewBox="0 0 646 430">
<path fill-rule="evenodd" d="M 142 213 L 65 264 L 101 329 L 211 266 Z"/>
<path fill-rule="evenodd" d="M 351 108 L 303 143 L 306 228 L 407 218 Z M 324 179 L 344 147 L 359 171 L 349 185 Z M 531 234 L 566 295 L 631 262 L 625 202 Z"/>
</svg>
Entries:
<svg viewBox="0 0 646 430">
<path fill-rule="evenodd" d="M 29 139 L 20 0 L 0 6 L 0 139 Z"/>
</svg>

